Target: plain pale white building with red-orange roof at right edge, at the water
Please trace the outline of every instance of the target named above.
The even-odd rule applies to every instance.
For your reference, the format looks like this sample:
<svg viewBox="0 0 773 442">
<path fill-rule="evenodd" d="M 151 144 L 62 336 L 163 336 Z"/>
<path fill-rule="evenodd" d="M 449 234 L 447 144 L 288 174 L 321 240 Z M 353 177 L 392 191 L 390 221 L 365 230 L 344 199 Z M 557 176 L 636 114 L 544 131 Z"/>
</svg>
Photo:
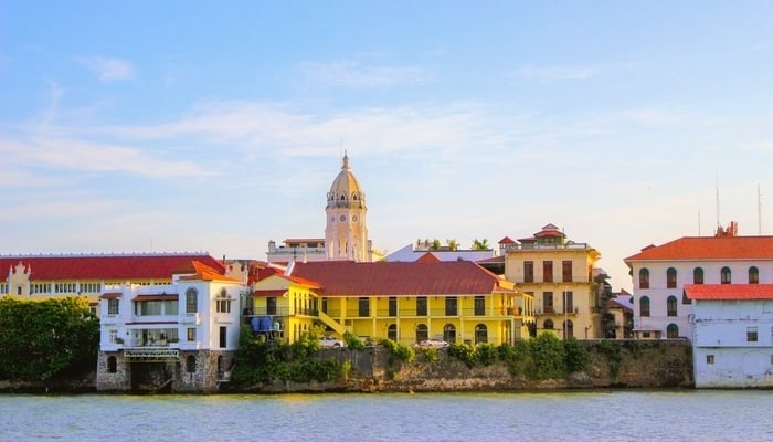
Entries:
<svg viewBox="0 0 773 442">
<path fill-rule="evenodd" d="M 696 388 L 773 387 L 773 284 L 685 285 Z"/>
</svg>

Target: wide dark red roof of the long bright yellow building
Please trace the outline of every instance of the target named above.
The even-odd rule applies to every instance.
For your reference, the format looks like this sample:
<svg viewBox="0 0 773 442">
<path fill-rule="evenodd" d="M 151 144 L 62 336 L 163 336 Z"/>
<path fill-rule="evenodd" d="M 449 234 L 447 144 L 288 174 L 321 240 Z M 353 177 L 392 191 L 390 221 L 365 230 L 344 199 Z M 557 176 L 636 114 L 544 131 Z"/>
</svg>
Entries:
<svg viewBox="0 0 773 442">
<path fill-rule="evenodd" d="M 499 278 L 469 261 L 296 263 L 294 276 L 317 281 L 325 295 L 405 296 L 489 294 Z"/>
</svg>

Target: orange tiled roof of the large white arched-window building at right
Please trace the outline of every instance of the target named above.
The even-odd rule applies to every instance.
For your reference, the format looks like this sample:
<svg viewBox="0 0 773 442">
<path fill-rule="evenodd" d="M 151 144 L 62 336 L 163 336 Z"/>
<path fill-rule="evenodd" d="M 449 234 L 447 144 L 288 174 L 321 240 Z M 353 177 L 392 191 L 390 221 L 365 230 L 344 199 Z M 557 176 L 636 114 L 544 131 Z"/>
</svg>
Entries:
<svg viewBox="0 0 773 442">
<path fill-rule="evenodd" d="M 685 236 L 624 261 L 773 260 L 773 236 Z"/>
</svg>

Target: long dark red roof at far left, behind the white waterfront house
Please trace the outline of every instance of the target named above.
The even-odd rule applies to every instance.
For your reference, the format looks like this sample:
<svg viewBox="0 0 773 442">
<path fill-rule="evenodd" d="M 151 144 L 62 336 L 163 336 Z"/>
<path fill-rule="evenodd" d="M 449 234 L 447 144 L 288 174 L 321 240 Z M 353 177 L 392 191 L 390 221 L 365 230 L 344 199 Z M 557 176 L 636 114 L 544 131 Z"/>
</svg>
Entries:
<svg viewBox="0 0 773 442">
<path fill-rule="evenodd" d="M 171 278 L 172 273 L 188 273 L 199 261 L 220 273 L 223 264 L 208 254 L 130 254 L 130 255 L 20 255 L 0 256 L 0 281 L 20 263 L 31 272 L 32 281 L 56 280 L 149 280 Z M 192 272 L 191 272 L 192 273 Z"/>
</svg>

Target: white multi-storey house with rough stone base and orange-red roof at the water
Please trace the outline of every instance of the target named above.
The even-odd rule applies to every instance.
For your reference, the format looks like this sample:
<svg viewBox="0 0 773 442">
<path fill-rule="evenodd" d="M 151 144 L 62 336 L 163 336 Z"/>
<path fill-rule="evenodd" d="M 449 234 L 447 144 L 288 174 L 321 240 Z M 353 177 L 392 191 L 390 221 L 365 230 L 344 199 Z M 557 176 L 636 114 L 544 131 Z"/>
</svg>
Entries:
<svg viewBox="0 0 773 442">
<path fill-rule="evenodd" d="M 245 288 L 198 261 L 171 284 L 105 286 L 97 390 L 216 391 L 230 380 Z"/>
</svg>

